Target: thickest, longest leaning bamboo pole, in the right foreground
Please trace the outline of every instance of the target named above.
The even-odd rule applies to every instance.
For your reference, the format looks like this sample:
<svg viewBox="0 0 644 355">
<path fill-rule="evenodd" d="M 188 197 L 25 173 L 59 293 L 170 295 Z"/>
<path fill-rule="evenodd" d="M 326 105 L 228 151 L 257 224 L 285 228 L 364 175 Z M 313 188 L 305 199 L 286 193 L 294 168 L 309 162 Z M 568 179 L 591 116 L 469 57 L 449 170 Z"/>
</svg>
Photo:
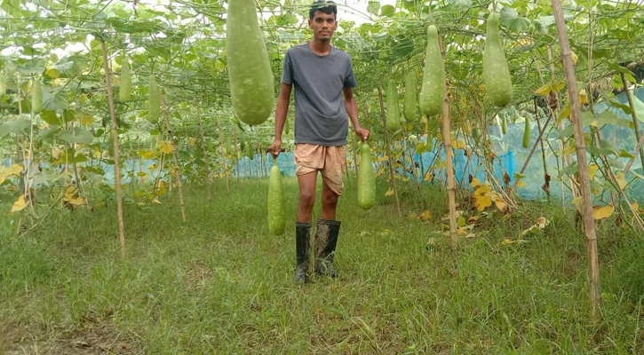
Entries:
<svg viewBox="0 0 644 355">
<path fill-rule="evenodd" d="M 568 83 L 568 99 L 570 103 L 570 119 L 575 129 L 575 148 L 577 166 L 579 167 L 579 185 L 582 197 L 582 214 L 584 216 L 584 233 L 586 235 L 586 248 L 588 252 L 588 277 L 591 287 L 591 306 L 594 315 L 600 312 L 600 266 L 597 258 L 597 235 L 595 221 L 592 213 L 591 185 L 588 176 L 586 161 L 586 147 L 584 142 L 584 127 L 581 122 L 581 108 L 579 93 L 576 89 L 575 68 L 573 66 L 568 30 L 563 18 L 561 0 L 553 0 L 553 15 L 557 25 L 557 36 L 561 46 L 561 60 Z"/>
</svg>

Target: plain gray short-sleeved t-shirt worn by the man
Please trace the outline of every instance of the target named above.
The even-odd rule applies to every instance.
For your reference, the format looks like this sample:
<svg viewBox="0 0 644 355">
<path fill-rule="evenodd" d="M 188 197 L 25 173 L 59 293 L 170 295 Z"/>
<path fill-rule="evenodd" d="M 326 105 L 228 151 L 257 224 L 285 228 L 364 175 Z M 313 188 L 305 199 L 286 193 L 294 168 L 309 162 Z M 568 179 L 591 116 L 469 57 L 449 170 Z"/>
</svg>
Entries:
<svg viewBox="0 0 644 355">
<path fill-rule="evenodd" d="M 358 83 L 345 51 L 331 47 L 329 54 L 319 56 L 308 43 L 290 48 L 282 83 L 295 87 L 295 143 L 346 146 L 349 121 L 342 90 Z"/>
</svg>

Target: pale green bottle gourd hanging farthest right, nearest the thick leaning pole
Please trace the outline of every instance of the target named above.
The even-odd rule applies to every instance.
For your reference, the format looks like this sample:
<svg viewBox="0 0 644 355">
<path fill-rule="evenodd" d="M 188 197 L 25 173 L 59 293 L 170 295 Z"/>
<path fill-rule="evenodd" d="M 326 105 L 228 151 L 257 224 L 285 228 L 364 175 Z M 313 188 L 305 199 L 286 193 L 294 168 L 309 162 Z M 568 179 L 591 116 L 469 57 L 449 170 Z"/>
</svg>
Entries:
<svg viewBox="0 0 644 355">
<path fill-rule="evenodd" d="M 495 106 L 507 106 L 513 99 L 512 77 L 505 52 L 498 36 L 499 14 L 488 16 L 485 50 L 483 51 L 483 81 L 488 98 Z"/>
</svg>

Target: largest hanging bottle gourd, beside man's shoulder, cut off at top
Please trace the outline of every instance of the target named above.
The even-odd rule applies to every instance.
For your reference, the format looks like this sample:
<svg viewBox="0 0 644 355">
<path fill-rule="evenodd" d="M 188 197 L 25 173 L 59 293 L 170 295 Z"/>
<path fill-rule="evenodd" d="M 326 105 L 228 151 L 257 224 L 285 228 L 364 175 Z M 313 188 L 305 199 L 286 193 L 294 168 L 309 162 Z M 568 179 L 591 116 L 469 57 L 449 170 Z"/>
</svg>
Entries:
<svg viewBox="0 0 644 355">
<path fill-rule="evenodd" d="M 273 111 L 273 72 L 254 0 L 228 1 L 226 52 L 235 115 L 251 126 Z"/>
</svg>

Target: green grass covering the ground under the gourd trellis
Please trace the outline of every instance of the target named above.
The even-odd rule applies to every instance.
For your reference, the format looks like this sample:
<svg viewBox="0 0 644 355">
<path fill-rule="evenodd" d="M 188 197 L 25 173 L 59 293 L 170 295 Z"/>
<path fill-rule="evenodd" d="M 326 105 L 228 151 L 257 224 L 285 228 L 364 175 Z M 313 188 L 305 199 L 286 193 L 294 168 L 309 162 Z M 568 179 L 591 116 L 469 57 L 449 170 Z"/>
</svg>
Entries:
<svg viewBox="0 0 644 355">
<path fill-rule="evenodd" d="M 131 197 L 125 264 L 113 202 L 62 211 L 20 240 L 2 217 L 0 353 L 644 353 L 644 240 L 614 221 L 598 225 L 602 309 L 592 319 L 584 239 L 560 207 L 526 202 L 508 219 L 483 217 L 480 236 L 452 252 L 440 189 L 403 185 L 399 218 L 386 186 L 364 211 L 349 184 L 341 277 L 298 287 L 297 181 L 284 179 L 292 218 L 281 236 L 267 231 L 266 180 L 232 186 L 217 182 L 206 201 L 188 185 L 187 225 L 176 196 L 145 206 Z M 432 220 L 409 217 L 424 205 Z M 552 221 L 545 233 L 501 244 L 539 216 Z"/>
</svg>

